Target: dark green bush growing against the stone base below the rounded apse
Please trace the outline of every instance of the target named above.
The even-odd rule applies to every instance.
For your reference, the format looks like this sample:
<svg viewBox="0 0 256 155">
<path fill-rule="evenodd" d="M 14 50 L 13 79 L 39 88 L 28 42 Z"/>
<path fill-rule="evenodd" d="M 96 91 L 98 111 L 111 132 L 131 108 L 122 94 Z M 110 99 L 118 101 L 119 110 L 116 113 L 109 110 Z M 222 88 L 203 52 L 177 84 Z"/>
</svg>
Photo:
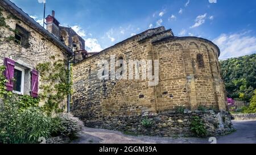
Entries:
<svg viewBox="0 0 256 155">
<path fill-rule="evenodd" d="M 199 118 L 199 116 L 194 116 L 191 121 L 191 131 L 198 137 L 207 136 L 207 130 L 205 129 L 205 125 L 203 120 Z"/>
</svg>

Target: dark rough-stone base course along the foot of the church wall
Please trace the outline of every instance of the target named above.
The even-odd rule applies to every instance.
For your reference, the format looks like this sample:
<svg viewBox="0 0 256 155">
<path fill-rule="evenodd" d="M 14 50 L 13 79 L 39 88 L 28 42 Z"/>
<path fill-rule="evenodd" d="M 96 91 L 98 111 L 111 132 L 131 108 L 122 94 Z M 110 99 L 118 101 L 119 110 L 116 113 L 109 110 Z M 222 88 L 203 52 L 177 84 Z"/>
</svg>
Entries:
<svg viewBox="0 0 256 155">
<path fill-rule="evenodd" d="M 106 116 L 97 120 L 84 120 L 85 125 L 94 128 L 114 129 L 131 132 L 139 135 L 173 136 L 177 134 L 192 135 L 191 121 L 193 116 L 199 116 L 204 122 L 209 136 L 225 135 L 233 131 L 232 115 L 229 112 L 214 111 L 184 111 L 178 114 L 175 111 L 161 112 L 137 116 Z M 142 125 L 142 120 L 148 118 L 152 121 L 150 128 Z"/>
</svg>

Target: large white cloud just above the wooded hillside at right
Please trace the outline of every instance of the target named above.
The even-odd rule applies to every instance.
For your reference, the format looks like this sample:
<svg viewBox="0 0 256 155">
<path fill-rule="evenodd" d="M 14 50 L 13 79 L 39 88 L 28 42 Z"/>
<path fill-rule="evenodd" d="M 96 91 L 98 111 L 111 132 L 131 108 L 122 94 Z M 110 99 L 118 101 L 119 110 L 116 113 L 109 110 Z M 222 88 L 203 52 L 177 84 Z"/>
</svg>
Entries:
<svg viewBox="0 0 256 155">
<path fill-rule="evenodd" d="M 256 37 L 250 36 L 249 31 L 230 35 L 224 33 L 214 39 L 213 43 L 220 48 L 220 58 L 237 57 L 256 52 Z"/>
</svg>

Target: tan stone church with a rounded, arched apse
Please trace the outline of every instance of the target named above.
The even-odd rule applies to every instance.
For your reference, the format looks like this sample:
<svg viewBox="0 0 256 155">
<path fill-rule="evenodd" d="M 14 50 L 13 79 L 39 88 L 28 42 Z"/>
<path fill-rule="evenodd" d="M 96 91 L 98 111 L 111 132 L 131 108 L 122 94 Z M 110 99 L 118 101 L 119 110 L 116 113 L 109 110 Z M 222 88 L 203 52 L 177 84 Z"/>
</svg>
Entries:
<svg viewBox="0 0 256 155">
<path fill-rule="evenodd" d="M 116 60 L 159 60 L 158 85 L 148 86 L 149 79 L 99 79 L 98 61 L 110 61 L 112 55 Z M 211 126 L 213 131 L 231 128 L 229 114 L 225 112 L 219 55 L 217 45 L 203 38 L 175 37 L 164 27 L 144 31 L 73 66 L 72 112 L 89 127 L 170 135 L 170 132 L 179 130 L 179 124 L 184 127 L 181 131 L 187 132 L 189 128 L 184 122 L 189 122 L 191 115 L 170 114 L 170 110 L 184 106 L 195 111 L 204 106 L 224 111 L 220 113 L 222 120 L 216 116 L 218 113 L 205 114 L 213 119 L 212 123 L 218 122 Z M 155 125 L 154 132 L 139 129 L 145 113 L 160 123 Z M 179 117 L 183 123 L 177 121 Z M 176 122 L 167 123 L 170 118 Z M 220 125 L 225 121 L 229 125 Z"/>
</svg>

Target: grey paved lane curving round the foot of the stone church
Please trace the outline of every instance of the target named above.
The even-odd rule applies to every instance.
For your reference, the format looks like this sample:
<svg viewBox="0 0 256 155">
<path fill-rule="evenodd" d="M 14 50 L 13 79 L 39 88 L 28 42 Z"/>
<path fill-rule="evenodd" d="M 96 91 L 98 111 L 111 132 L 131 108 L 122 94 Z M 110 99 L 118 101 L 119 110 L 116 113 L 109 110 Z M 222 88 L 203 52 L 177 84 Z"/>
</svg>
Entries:
<svg viewBox="0 0 256 155">
<path fill-rule="evenodd" d="M 217 143 L 254 143 L 256 144 L 256 121 L 233 122 L 236 132 L 222 137 L 217 137 Z M 122 132 L 110 131 L 108 129 L 84 128 L 79 133 L 79 139 L 73 141 L 78 144 L 198 144 L 210 143 L 208 138 L 199 139 L 192 137 L 150 137 L 130 136 Z"/>
</svg>

